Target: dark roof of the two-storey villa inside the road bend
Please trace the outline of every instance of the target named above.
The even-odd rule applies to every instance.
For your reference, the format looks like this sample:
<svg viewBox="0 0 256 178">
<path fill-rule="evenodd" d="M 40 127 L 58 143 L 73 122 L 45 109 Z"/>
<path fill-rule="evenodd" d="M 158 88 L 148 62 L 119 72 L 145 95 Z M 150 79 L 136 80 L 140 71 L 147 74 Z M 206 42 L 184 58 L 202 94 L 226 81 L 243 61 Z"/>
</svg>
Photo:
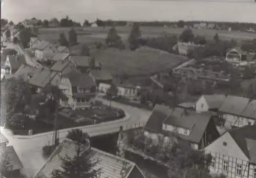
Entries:
<svg viewBox="0 0 256 178">
<path fill-rule="evenodd" d="M 62 77 L 68 78 L 72 86 L 79 86 L 81 88 L 96 86 L 93 79 L 85 73 L 73 72 Z"/>
</svg>

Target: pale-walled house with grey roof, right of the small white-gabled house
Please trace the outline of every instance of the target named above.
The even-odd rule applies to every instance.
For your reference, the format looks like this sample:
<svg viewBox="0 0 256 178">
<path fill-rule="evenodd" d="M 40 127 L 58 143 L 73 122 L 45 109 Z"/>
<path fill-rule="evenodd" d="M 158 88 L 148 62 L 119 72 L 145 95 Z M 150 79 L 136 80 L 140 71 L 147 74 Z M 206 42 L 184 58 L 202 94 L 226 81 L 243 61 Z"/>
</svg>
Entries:
<svg viewBox="0 0 256 178">
<path fill-rule="evenodd" d="M 248 106 L 250 99 L 238 96 L 228 95 L 219 108 L 219 115 L 225 120 L 225 126 L 242 127 L 244 125 L 253 124 L 254 120 L 246 118 L 244 110 Z M 247 113 L 246 113 L 247 114 Z"/>
</svg>

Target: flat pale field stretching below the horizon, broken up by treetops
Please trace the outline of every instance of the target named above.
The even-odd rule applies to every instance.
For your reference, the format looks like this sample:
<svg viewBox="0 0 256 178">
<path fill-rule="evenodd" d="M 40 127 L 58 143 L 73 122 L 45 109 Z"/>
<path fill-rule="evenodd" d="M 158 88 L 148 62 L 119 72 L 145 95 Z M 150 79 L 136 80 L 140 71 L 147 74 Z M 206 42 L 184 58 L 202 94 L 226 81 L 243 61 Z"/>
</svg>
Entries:
<svg viewBox="0 0 256 178">
<path fill-rule="evenodd" d="M 85 42 L 93 44 L 97 41 L 104 41 L 108 31 L 111 27 L 78 27 L 75 28 L 78 34 L 78 42 Z M 126 40 L 130 34 L 132 27 L 123 26 L 116 27 L 119 35 L 123 40 Z M 59 38 L 59 33 L 65 33 L 68 37 L 70 28 L 42 28 L 39 29 L 39 37 L 49 41 L 56 41 Z M 142 37 L 156 37 L 161 34 L 180 35 L 184 29 L 180 28 L 165 28 L 165 27 L 140 27 Z M 212 39 L 216 33 L 221 39 L 236 39 L 238 41 L 256 38 L 256 33 L 239 32 L 239 31 L 225 31 L 225 30 L 210 30 L 210 29 L 193 29 L 194 34 L 205 36 L 207 39 Z"/>
</svg>

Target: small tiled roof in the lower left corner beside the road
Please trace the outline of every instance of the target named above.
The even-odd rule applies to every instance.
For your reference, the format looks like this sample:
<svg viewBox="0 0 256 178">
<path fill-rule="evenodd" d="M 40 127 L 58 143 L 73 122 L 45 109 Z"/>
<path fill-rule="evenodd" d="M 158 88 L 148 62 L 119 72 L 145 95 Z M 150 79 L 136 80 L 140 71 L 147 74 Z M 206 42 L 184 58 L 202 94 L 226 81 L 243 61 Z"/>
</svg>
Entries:
<svg viewBox="0 0 256 178">
<path fill-rule="evenodd" d="M 1 150 L 1 148 L 0 148 Z M 5 150 L 2 148 L 3 154 L 5 155 L 5 159 L 9 163 L 8 167 L 10 166 L 10 171 L 19 170 L 23 168 L 22 162 L 20 162 L 16 151 L 14 150 L 13 146 L 7 146 Z M 2 152 L 0 151 L 0 152 Z"/>
</svg>

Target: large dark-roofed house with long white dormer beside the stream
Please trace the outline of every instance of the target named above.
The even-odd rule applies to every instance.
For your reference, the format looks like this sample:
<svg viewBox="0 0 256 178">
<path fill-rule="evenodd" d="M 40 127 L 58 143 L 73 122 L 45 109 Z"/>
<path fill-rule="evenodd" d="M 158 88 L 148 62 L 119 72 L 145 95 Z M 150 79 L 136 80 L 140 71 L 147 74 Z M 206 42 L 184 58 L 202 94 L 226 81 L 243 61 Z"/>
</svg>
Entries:
<svg viewBox="0 0 256 178">
<path fill-rule="evenodd" d="M 220 136 L 211 113 L 188 113 L 158 104 L 143 130 L 156 142 L 163 138 L 165 144 L 172 144 L 172 140 L 186 142 L 193 149 L 203 149 Z"/>
</svg>

